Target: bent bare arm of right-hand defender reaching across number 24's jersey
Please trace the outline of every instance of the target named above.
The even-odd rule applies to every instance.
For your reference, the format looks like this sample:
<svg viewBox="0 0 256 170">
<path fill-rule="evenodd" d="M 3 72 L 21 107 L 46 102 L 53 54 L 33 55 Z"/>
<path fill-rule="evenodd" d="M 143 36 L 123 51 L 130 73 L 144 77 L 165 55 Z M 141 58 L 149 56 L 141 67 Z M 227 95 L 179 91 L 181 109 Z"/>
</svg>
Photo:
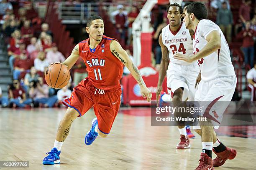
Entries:
<svg viewBox="0 0 256 170">
<path fill-rule="evenodd" d="M 177 53 L 176 55 L 174 55 L 174 58 L 176 60 L 193 62 L 203 57 L 206 57 L 207 55 L 210 55 L 213 52 L 218 51 L 220 49 L 221 37 L 220 37 L 220 32 L 218 30 L 212 31 L 209 35 L 207 35 L 205 39 L 208 41 L 205 47 L 199 52 L 197 52 L 195 55 L 192 55 L 192 57 L 188 57 L 186 55 Z"/>
</svg>

